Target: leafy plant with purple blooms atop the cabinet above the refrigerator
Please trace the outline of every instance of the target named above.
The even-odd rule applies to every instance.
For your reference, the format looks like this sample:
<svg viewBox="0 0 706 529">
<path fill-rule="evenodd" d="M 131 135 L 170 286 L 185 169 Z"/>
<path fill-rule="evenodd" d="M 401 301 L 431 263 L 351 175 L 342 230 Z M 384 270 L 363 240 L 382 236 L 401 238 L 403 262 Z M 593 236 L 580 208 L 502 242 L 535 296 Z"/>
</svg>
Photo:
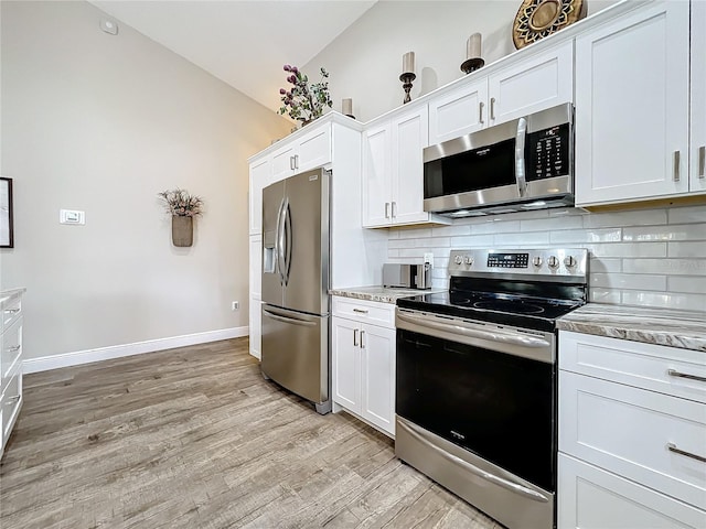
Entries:
<svg viewBox="0 0 706 529">
<path fill-rule="evenodd" d="M 297 66 L 285 65 L 285 72 L 291 75 L 287 77 L 287 82 L 293 85 L 289 90 L 279 89 L 282 96 L 282 106 L 279 114 L 289 114 L 293 120 L 308 123 L 323 114 L 324 107 L 331 107 L 331 95 L 329 94 L 329 82 L 324 80 L 329 77 L 329 73 L 321 68 L 321 80 L 309 86 L 309 77 L 301 73 Z"/>
</svg>

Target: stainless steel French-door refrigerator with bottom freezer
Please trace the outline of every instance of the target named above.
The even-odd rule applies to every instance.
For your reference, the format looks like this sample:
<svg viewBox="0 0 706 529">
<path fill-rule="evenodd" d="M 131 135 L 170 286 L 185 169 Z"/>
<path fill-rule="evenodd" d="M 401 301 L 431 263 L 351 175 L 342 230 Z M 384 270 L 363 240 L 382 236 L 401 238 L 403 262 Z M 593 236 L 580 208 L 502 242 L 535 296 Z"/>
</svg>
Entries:
<svg viewBox="0 0 706 529">
<path fill-rule="evenodd" d="M 331 411 L 329 173 L 263 190 L 263 375 Z"/>
</svg>

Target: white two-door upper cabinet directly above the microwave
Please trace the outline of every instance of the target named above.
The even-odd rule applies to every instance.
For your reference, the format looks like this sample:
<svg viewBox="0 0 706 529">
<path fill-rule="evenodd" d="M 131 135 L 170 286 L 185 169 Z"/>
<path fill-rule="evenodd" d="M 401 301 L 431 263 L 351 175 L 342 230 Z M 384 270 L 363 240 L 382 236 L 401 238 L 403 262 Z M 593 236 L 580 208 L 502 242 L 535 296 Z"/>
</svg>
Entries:
<svg viewBox="0 0 706 529">
<path fill-rule="evenodd" d="M 429 144 L 573 100 L 571 41 L 534 55 L 522 53 L 523 61 L 429 100 Z"/>
</svg>

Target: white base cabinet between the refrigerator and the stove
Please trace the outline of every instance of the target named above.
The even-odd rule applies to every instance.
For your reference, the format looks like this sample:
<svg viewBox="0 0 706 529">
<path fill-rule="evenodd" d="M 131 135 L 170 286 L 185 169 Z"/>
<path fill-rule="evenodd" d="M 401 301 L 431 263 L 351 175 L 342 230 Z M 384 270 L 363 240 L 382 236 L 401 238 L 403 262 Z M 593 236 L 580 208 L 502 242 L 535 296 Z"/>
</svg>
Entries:
<svg viewBox="0 0 706 529">
<path fill-rule="evenodd" d="M 395 435 L 395 305 L 333 298 L 333 411 Z"/>
</svg>

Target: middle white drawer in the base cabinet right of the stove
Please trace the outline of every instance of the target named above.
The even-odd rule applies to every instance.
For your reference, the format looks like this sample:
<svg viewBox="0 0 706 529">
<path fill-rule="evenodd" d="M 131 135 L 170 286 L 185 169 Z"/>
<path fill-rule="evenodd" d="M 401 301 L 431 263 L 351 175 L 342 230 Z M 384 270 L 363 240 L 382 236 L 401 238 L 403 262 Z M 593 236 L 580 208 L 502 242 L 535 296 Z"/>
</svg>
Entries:
<svg viewBox="0 0 706 529">
<path fill-rule="evenodd" d="M 706 407 L 559 374 L 559 450 L 706 509 Z"/>
</svg>

